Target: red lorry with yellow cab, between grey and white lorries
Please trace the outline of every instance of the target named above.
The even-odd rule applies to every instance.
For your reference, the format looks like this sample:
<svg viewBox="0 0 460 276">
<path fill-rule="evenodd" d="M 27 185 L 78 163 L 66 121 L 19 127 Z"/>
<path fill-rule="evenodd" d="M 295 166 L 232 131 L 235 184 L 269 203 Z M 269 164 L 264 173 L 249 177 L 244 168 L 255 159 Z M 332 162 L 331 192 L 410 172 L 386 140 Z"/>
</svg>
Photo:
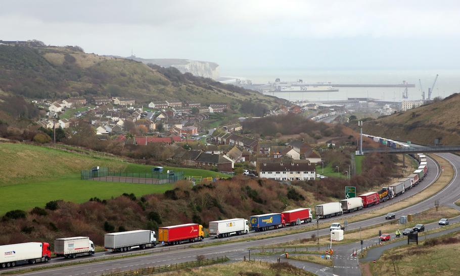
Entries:
<svg viewBox="0 0 460 276">
<path fill-rule="evenodd" d="M 158 241 L 167 244 L 202 241 L 204 238 L 203 226 L 197 223 L 172 225 L 158 228 Z"/>
</svg>

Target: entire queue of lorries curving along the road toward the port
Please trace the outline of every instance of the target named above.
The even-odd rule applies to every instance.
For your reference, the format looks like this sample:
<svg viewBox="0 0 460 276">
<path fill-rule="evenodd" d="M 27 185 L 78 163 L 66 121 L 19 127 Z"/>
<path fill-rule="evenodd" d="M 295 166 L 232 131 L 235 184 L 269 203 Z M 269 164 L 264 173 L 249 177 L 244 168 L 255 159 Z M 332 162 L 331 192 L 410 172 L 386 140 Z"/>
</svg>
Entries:
<svg viewBox="0 0 460 276">
<path fill-rule="evenodd" d="M 364 134 L 363 134 L 364 135 Z M 367 135 L 382 143 L 380 137 Z M 390 143 L 383 143 L 390 145 Z M 394 144 L 397 145 L 397 144 Z M 380 202 L 392 199 L 408 189 L 415 187 L 427 174 L 426 157 L 423 154 L 414 156 L 420 163 L 419 168 L 408 177 L 399 179 L 392 185 L 383 188 L 379 192 L 370 192 L 358 197 L 348 198 L 339 202 L 330 202 L 315 206 L 316 218 L 329 218 L 342 215 L 344 212 L 353 212 L 363 207 L 369 207 Z M 271 228 L 284 227 L 311 222 L 312 212 L 310 208 L 299 208 L 282 213 L 269 213 L 254 215 L 249 221 L 244 218 L 232 218 L 209 222 L 209 236 L 215 238 L 242 235 L 249 232 L 249 226 L 254 231 L 266 231 Z M 337 227 L 341 228 L 339 224 Z M 202 241 L 204 238 L 203 226 L 198 223 L 188 223 L 159 227 L 158 242 L 163 245 L 177 245 L 183 242 Z M 145 249 L 155 247 L 157 236 L 154 231 L 134 230 L 127 232 L 109 233 L 104 235 L 104 247 L 106 251 L 124 252 L 131 248 Z M 71 237 L 56 239 L 54 241 L 54 253 L 57 257 L 75 258 L 79 255 L 93 255 L 95 246 L 88 237 Z M 11 267 L 19 263 L 47 262 L 51 259 L 51 247 L 49 243 L 31 242 L 0 246 L 0 267 Z"/>
</svg>

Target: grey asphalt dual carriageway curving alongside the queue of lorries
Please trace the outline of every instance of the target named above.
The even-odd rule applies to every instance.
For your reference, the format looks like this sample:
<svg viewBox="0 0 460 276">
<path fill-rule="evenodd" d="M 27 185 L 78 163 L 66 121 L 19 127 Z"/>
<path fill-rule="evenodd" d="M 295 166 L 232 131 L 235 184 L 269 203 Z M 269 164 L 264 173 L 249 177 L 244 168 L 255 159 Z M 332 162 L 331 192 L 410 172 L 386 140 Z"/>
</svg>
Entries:
<svg viewBox="0 0 460 276">
<path fill-rule="evenodd" d="M 460 185 L 459 185 L 460 182 L 459 182 L 459 179 L 457 178 L 457 168 L 460 168 L 460 157 L 455 156 L 453 154 L 448 154 L 448 153 L 439 154 L 439 155 L 452 164 L 454 168 L 453 180 L 449 183 L 449 185 L 447 185 L 446 188 L 444 188 L 442 191 L 437 193 L 435 196 L 427 200 L 424 200 L 418 204 L 415 204 L 413 206 L 396 211 L 395 212 L 396 217 L 399 217 L 401 215 L 407 215 L 410 213 L 415 214 L 415 213 L 430 209 L 434 207 L 435 200 L 439 200 L 442 206 L 460 209 L 458 206 L 453 204 L 456 200 L 460 198 Z M 384 206 L 388 206 L 389 204 L 395 204 L 399 202 L 400 200 L 404 200 L 407 197 L 415 193 L 418 193 L 422 189 L 428 187 L 439 176 L 441 171 L 440 171 L 440 168 L 437 166 L 437 164 L 430 158 L 427 158 L 427 162 L 428 162 L 428 168 L 429 168 L 428 174 L 424 178 L 424 180 L 421 183 L 419 183 L 418 186 L 413 187 L 412 189 L 408 190 L 404 194 L 390 201 L 382 202 L 378 205 L 375 205 L 369 208 L 364 208 L 360 211 L 356 211 L 351 214 L 344 214 L 340 216 L 339 218 L 343 219 L 346 217 L 355 216 L 363 212 L 369 212 L 377 208 L 382 208 Z M 321 181 L 321 180 L 318 180 L 318 181 Z M 323 224 L 322 225 L 323 227 L 325 226 L 324 224 L 329 226 L 330 222 L 333 220 L 334 218 L 320 220 L 320 225 Z M 353 222 L 353 223 L 349 223 L 347 230 L 357 229 L 359 227 L 376 225 L 376 224 L 383 223 L 385 221 L 386 221 L 385 218 L 381 216 L 381 217 L 367 219 L 364 221 Z M 458 221 L 459 221 L 458 217 L 451 219 L 451 223 L 458 222 Z M 308 225 L 315 225 L 315 223 L 312 222 L 312 223 L 303 224 L 302 226 L 292 226 L 292 227 L 305 227 Z M 426 225 L 426 229 L 428 230 L 434 226 L 437 226 L 437 225 Z M 274 231 L 286 231 L 289 228 L 290 227 L 286 227 L 286 228 L 277 229 Z M 249 236 L 264 235 L 268 233 L 273 233 L 274 231 L 266 231 L 262 233 L 251 232 Z M 80 258 L 73 259 L 73 260 L 57 258 L 57 259 L 53 259 L 48 264 L 40 263 L 40 264 L 35 264 L 35 265 L 22 265 L 16 268 L 3 269 L 2 272 L 11 271 L 11 270 L 17 271 L 17 270 L 21 270 L 24 268 L 30 268 L 30 267 L 35 267 L 35 266 L 40 267 L 40 266 L 46 266 L 46 265 L 52 265 L 52 264 L 58 264 L 58 263 L 64 263 L 64 262 L 78 262 L 78 261 L 87 261 L 87 260 L 98 259 L 98 258 L 103 258 L 103 257 L 112 257 L 112 256 L 117 256 L 117 255 L 120 256 L 120 255 L 137 254 L 137 253 L 142 253 L 142 252 L 152 252 L 152 254 L 135 256 L 131 258 L 101 261 L 101 262 L 95 262 L 95 263 L 76 264 L 76 265 L 71 265 L 71 266 L 66 266 L 66 267 L 50 268 L 50 269 L 45 269 L 45 270 L 38 270 L 38 271 L 22 273 L 22 275 L 35 275 L 35 276 L 101 275 L 103 273 L 108 273 L 110 271 L 123 271 L 123 270 L 135 269 L 139 267 L 169 265 L 169 264 L 175 264 L 179 262 L 195 261 L 197 259 L 196 257 L 199 255 L 204 255 L 206 258 L 227 256 L 233 260 L 242 260 L 244 258 L 247 259 L 249 257 L 249 248 L 258 247 L 258 246 L 269 247 L 270 245 L 274 245 L 274 244 L 279 244 L 279 243 L 284 243 L 284 242 L 289 242 L 289 241 L 294 241 L 294 240 L 300 240 L 304 238 L 310 238 L 311 234 L 316 234 L 316 232 L 317 231 L 310 231 L 310 232 L 287 235 L 287 236 L 282 236 L 282 237 L 277 237 L 277 238 L 269 238 L 269 239 L 264 239 L 260 241 L 231 243 L 231 244 L 217 245 L 217 246 L 211 246 L 211 247 L 205 247 L 205 248 L 187 248 L 187 245 L 178 245 L 178 246 L 158 245 L 157 248 L 155 249 L 148 249 L 148 250 L 143 250 L 143 251 L 132 250 L 132 251 L 129 251 L 128 253 L 98 252 L 94 257 L 80 257 Z M 320 236 L 329 235 L 329 233 L 330 233 L 329 227 L 319 230 Z M 392 235 L 393 235 L 392 239 L 394 239 L 394 233 Z M 376 234 L 376 237 L 377 237 L 377 234 Z M 215 240 L 216 239 L 214 238 L 207 238 L 205 239 L 204 242 L 208 243 L 208 242 L 212 242 Z M 221 239 L 221 240 L 225 240 L 225 239 Z M 370 246 L 371 244 L 375 244 L 375 243 L 376 243 L 376 239 L 366 240 L 364 241 L 364 247 Z M 360 248 L 360 245 L 358 244 L 347 244 L 347 245 L 341 245 L 341 246 L 334 247 L 334 250 L 335 250 L 335 254 L 333 257 L 334 258 L 334 268 L 329 267 L 329 268 L 324 268 L 324 270 L 321 270 L 321 269 L 318 270 L 317 264 L 310 265 L 307 262 L 304 263 L 303 268 L 309 271 L 312 270 L 312 272 L 316 271 L 314 273 L 318 275 L 333 275 L 333 274 L 341 275 L 341 276 L 342 275 L 360 275 L 357 258 L 355 256 L 352 256 L 353 250 L 359 249 L 359 248 Z M 321 248 L 321 250 L 323 249 L 324 248 Z M 254 256 L 251 256 L 251 258 L 253 259 Z M 263 259 L 265 261 L 265 259 L 269 259 L 269 258 L 258 256 L 258 259 Z"/>
</svg>

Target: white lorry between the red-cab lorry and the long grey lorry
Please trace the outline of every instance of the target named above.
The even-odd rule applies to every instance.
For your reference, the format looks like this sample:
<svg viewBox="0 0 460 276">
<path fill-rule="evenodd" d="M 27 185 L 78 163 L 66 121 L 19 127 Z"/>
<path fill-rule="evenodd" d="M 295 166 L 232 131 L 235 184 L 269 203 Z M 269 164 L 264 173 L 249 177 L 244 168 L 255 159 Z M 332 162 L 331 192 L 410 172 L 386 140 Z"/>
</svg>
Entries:
<svg viewBox="0 0 460 276">
<path fill-rule="evenodd" d="M 88 237 L 72 237 L 54 240 L 57 257 L 75 258 L 80 255 L 94 255 L 94 243 Z"/>
</svg>

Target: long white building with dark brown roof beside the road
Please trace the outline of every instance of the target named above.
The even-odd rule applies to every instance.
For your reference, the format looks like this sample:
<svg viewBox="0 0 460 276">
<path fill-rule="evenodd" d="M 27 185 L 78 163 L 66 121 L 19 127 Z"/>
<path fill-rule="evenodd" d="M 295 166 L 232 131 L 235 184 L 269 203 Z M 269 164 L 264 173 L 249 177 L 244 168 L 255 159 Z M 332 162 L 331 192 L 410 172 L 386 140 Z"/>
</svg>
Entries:
<svg viewBox="0 0 460 276">
<path fill-rule="evenodd" d="M 263 162 L 257 167 L 259 177 L 275 180 L 314 180 L 316 167 L 300 160 Z"/>
</svg>

